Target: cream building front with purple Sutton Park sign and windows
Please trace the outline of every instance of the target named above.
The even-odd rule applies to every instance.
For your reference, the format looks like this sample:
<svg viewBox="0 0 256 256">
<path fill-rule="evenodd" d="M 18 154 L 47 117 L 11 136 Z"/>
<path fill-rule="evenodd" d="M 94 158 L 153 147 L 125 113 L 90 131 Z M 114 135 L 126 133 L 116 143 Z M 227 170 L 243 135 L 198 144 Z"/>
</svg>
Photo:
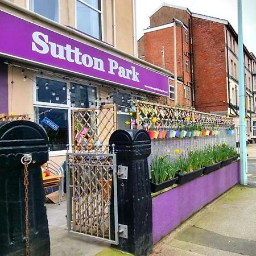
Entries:
<svg viewBox="0 0 256 256">
<path fill-rule="evenodd" d="M 134 1 L 2 0 L 0 10 L 0 113 L 43 125 L 56 162 L 72 144 L 72 110 L 116 103 L 129 129 L 134 100 L 168 96 L 170 72 L 134 57 Z"/>
</svg>

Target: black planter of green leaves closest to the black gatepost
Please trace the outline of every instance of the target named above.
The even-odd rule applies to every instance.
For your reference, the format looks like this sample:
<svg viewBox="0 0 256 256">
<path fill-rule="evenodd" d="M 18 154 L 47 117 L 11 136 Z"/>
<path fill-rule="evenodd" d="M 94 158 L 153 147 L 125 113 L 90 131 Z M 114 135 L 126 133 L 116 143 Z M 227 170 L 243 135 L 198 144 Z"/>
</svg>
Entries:
<svg viewBox="0 0 256 256">
<path fill-rule="evenodd" d="M 158 192 L 170 187 L 178 179 L 175 177 L 178 168 L 177 162 L 176 160 L 171 162 L 167 156 L 155 155 L 151 160 L 151 192 Z"/>
</svg>

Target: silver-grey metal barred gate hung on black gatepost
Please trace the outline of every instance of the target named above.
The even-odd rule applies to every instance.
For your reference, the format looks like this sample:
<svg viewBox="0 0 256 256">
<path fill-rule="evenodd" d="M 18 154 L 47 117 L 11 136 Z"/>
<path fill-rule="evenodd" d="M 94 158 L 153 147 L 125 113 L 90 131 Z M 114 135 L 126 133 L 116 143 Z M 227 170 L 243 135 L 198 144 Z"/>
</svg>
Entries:
<svg viewBox="0 0 256 256">
<path fill-rule="evenodd" d="M 112 153 L 67 153 L 71 233 L 118 244 L 117 164 Z"/>
</svg>

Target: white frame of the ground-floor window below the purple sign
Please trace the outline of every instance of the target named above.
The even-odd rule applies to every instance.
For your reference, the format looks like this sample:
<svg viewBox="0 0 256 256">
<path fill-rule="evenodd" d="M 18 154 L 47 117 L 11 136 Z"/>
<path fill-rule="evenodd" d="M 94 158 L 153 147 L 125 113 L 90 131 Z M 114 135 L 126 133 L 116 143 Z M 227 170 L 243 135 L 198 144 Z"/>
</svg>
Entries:
<svg viewBox="0 0 256 256">
<path fill-rule="evenodd" d="M 67 93 L 67 105 L 65 104 L 56 104 L 56 103 L 49 103 L 49 102 L 43 102 L 43 101 L 37 101 L 36 100 L 36 77 L 40 77 L 43 79 L 48 79 L 48 80 L 54 80 L 54 81 L 59 81 L 59 82 L 65 82 L 66 84 L 66 93 Z M 60 79 L 59 77 L 51 77 L 51 76 L 45 76 L 45 75 L 40 75 L 38 73 L 33 75 L 32 79 L 32 84 L 33 84 L 33 113 L 34 113 L 34 108 L 51 108 L 51 109 L 64 109 L 68 110 L 68 144 L 69 144 L 69 150 L 72 150 L 72 110 L 76 109 L 85 109 L 82 108 L 76 108 L 72 107 L 71 105 L 71 94 L 69 92 L 69 89 L 71 88 L 71 83 L 75 84 L 81 84 L 84 86 L 90 86 L 86 84 L 86 81 L 80 81 L 79 79 L 76 81 L 73 80 L 65 80 L 65 79 Z M 93 85 L 93 87 L 96 87 L 96 98 L 98 98 L 98 86 L 96 84 Z M 34 116 L 34 121 L 36 122 L 36 117 Z M 61 156 L 65 155 L 67 150 L 56 150 L 56 151 L 49 151 L 49 156 Z"/>
</svg>

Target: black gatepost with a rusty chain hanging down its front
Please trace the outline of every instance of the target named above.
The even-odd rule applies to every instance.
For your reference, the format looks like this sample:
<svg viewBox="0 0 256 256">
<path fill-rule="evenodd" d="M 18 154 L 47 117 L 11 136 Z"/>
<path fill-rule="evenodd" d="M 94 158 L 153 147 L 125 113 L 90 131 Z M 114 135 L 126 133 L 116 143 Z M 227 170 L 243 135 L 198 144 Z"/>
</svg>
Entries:
<svg viewBox="0 0 256 256">
<path fill-rule="evenodd" d="M 40 168 L 48 160 L 47 143 L 46 131 L 34 122 L 0 122 L 0 255 L 26 255 L 27 246 L 31 256 L 50 255 L 45 193 Z M 27 154 L 26 159 L 23 158 L 24 154 Z M 21 160 L 23 163 L 29 163 L 27 211 L 25 166 Z M 26 243 L 26 212 L 29 243 Z"/>
</svg>

